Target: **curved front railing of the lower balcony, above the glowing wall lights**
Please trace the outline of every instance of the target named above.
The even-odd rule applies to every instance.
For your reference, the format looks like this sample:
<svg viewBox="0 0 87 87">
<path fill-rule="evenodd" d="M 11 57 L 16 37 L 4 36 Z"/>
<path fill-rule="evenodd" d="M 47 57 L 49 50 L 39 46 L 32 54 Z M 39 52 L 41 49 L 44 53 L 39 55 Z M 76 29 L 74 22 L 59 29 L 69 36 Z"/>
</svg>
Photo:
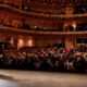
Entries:
<svg viewBox="0 0 87 87">
<path fill-rule="evenodd" d="M 16 29 L 12 27 L 7 27 L 7 26 L 0 26 L 0 33 L 10 33 L 10 34 L 20 34 L 20 35 L 77 35 L 77 36 L 87 36 L 87 30 L 86 32 L 36 32 L 33 29 L 29 30 L 23 30 L 23 29 Z"/>
</svg>

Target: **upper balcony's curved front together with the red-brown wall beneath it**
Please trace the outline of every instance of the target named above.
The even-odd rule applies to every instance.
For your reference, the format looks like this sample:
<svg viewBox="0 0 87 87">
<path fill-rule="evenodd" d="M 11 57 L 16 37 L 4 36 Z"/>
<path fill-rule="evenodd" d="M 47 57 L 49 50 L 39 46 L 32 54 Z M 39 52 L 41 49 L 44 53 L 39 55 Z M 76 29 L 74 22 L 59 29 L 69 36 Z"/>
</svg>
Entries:
<svg viewBox="0 0 87 87">
<path fill-rule="evenodd" d="M 44 13 L 26 12 L 22 9 L 16 9 L 8 4 L 0 4 L 0 23 L 4 25 L 14 26 L 17 28 L 22 25 L 37 26 L 44 28 L 58 28 L 64 25 L 76 25 L 79 23 L 87 23 L 87 14 L 72 14 L 72 15 L 51 15 Z"/>
</svg>

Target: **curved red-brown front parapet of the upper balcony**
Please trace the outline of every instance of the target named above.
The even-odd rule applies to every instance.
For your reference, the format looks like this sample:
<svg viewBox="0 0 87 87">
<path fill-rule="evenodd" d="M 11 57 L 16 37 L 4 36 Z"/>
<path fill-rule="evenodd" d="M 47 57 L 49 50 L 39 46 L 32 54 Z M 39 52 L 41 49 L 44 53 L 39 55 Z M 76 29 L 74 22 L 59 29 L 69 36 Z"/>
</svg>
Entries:
<svg viewBox="0 0 87 87">
<path fill-rule="evenodd" d="M 0 4 L 0 9 L 3 11 L 9 11 L 12 13 L 16 13 L 18 15 L 23 15 L 26 17 L 37 17 L 37 18 L 46 18 L 46 20 L 79 20 L 79 18 L 87 18 L 87 13 L 84 14 L 74 14 L 74 15 L 65 15 L 65 14 L 61 14 L 61 15 L 53 15 L 53 14 L 49 14 L 49 13 L 38 13 L 38 12 L 30 12 L 30 11 L 24 11 L 21 9 L 16 9 L 7 4 Z"/>
</svg>

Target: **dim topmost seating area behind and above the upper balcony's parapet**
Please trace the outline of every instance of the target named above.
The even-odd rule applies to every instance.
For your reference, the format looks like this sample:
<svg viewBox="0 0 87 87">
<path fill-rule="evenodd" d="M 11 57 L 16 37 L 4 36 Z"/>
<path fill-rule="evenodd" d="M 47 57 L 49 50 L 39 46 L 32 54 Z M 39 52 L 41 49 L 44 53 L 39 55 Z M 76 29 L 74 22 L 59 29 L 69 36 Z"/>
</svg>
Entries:
<svg viewBox="0 0 87 87">
<path fill-rule="evenodd" d="M 0 3 L 48 15 L 87 13 L 86 0 L 0 0 Z"/>
</svg>

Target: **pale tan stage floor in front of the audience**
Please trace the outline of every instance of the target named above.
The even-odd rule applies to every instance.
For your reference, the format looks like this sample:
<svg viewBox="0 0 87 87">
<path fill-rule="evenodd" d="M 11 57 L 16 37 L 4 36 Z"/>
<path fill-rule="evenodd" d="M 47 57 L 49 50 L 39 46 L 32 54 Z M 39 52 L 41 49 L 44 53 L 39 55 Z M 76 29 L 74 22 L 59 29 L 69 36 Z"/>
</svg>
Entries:
<svg viewBox="0 0 87 87">
<path fill-rule="evenodd" d="M 87 87 L 87 74 L 0 70 L 0 87 Z"/>
</svg>

